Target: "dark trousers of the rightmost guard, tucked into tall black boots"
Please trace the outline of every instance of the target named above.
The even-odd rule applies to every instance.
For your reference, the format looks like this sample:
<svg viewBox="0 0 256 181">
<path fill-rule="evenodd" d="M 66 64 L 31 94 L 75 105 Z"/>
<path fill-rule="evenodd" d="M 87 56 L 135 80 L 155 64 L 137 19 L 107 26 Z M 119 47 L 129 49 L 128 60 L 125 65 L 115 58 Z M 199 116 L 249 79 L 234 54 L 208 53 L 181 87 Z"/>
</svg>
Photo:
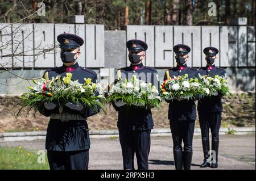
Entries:
<svg viewBox="0 0 256 181">
<path fill-rule="evenodd" d="M 209 140 L 209 128 L 212 140 L 218 141 L 218 132 L 221 126 L 221 112 L 199 112 L 199 123 L 202 140 Z"/>
</svg>

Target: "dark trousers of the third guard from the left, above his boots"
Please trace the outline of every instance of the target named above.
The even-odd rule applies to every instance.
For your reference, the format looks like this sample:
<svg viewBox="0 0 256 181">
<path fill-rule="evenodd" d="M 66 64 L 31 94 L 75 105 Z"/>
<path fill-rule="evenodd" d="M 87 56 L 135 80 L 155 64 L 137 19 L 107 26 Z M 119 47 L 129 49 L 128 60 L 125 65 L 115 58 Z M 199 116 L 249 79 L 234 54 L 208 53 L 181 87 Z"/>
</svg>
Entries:
<svg viewBox="0 0 256 181">
<path fill-rule="evenodd" d="M 192 151 L 192 141 L 195 129 L 195 120 L 170 120 L 174 151 Z"/>
</svg>

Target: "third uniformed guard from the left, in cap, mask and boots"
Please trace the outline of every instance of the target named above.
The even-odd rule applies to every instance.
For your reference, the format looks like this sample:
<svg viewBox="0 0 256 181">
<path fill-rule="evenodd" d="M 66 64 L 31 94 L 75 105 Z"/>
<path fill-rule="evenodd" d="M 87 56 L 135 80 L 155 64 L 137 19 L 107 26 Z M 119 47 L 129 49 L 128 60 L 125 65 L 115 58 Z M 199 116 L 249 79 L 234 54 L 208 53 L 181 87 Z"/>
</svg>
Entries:
<svg viewBox="0 0 256 181">
<path fill-rule="evenodd" d="M 188 78 L 199 78 L 199 70 L 189 68 L 186 64 L 190 48 L 184 44 L 174 46 L 175 59 L 177 66 L 166 70 L 164 81 L 188 74 Z M 174 142 L 174 162 L 176 170 L 191 169 L 192 161 L 192 140 L 196 120 L 195 100 L 167 100 L 169 104 L 168 119 L 172 140 Z M 182 141 L 184 148 L 182 148 Z"/>
</svg>

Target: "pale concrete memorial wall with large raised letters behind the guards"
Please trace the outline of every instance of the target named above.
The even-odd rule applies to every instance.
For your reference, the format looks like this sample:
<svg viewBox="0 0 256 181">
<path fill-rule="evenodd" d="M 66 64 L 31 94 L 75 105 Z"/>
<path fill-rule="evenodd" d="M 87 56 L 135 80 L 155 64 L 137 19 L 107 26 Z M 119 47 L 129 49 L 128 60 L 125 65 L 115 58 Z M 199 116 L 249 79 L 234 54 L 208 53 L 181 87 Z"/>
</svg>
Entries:
<svg viewBox="0 0 256 181">
<path fill-rule="evenodd" d="M 143 64 L 159 71 L 175 66 L 172 47 L 191 47 L 188 66 L 205 66 L 203 49 L 220 50 L 216 66 L 226 68 L 233 90 L 255 90 L 255 27 L 243 18 L 233 26 L 126 26 L 105 31 L 100 24 L 7 24 L 0 23 L 0 72 L 5 69 L 24 78 L 39 78 L 44 70 L 61 66 L 57 35 L 75 33 L 85 39 L 79 64 L 98 73 L 102 86 L 114 81 L 115 70 L 129 66 L 126 41 L 146 41 Z M 57 48 L 55 48 L 57 47 Z M 4 68 L 3 68 L 4 67 Z M 0 94 L 21 94 L 30 81 L 4 71 L 0 73 Z"/>
</svg>

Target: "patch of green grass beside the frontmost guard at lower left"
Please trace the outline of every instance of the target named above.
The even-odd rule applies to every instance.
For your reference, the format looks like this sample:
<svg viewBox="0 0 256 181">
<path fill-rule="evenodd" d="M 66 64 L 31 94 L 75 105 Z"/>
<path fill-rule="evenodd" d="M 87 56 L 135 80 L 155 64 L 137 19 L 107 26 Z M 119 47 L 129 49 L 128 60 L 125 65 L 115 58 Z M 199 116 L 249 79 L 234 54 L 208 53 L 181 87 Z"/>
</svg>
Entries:
<svg viewBox="0 0 256 181">
<path fill-rule="evenodd" d="M 0 170 L 49 170 L 47 151 L 45 163 L 38 163 L 35 150 L 23 149 L 23 147 L 0 147 Z"/>
</svg>

